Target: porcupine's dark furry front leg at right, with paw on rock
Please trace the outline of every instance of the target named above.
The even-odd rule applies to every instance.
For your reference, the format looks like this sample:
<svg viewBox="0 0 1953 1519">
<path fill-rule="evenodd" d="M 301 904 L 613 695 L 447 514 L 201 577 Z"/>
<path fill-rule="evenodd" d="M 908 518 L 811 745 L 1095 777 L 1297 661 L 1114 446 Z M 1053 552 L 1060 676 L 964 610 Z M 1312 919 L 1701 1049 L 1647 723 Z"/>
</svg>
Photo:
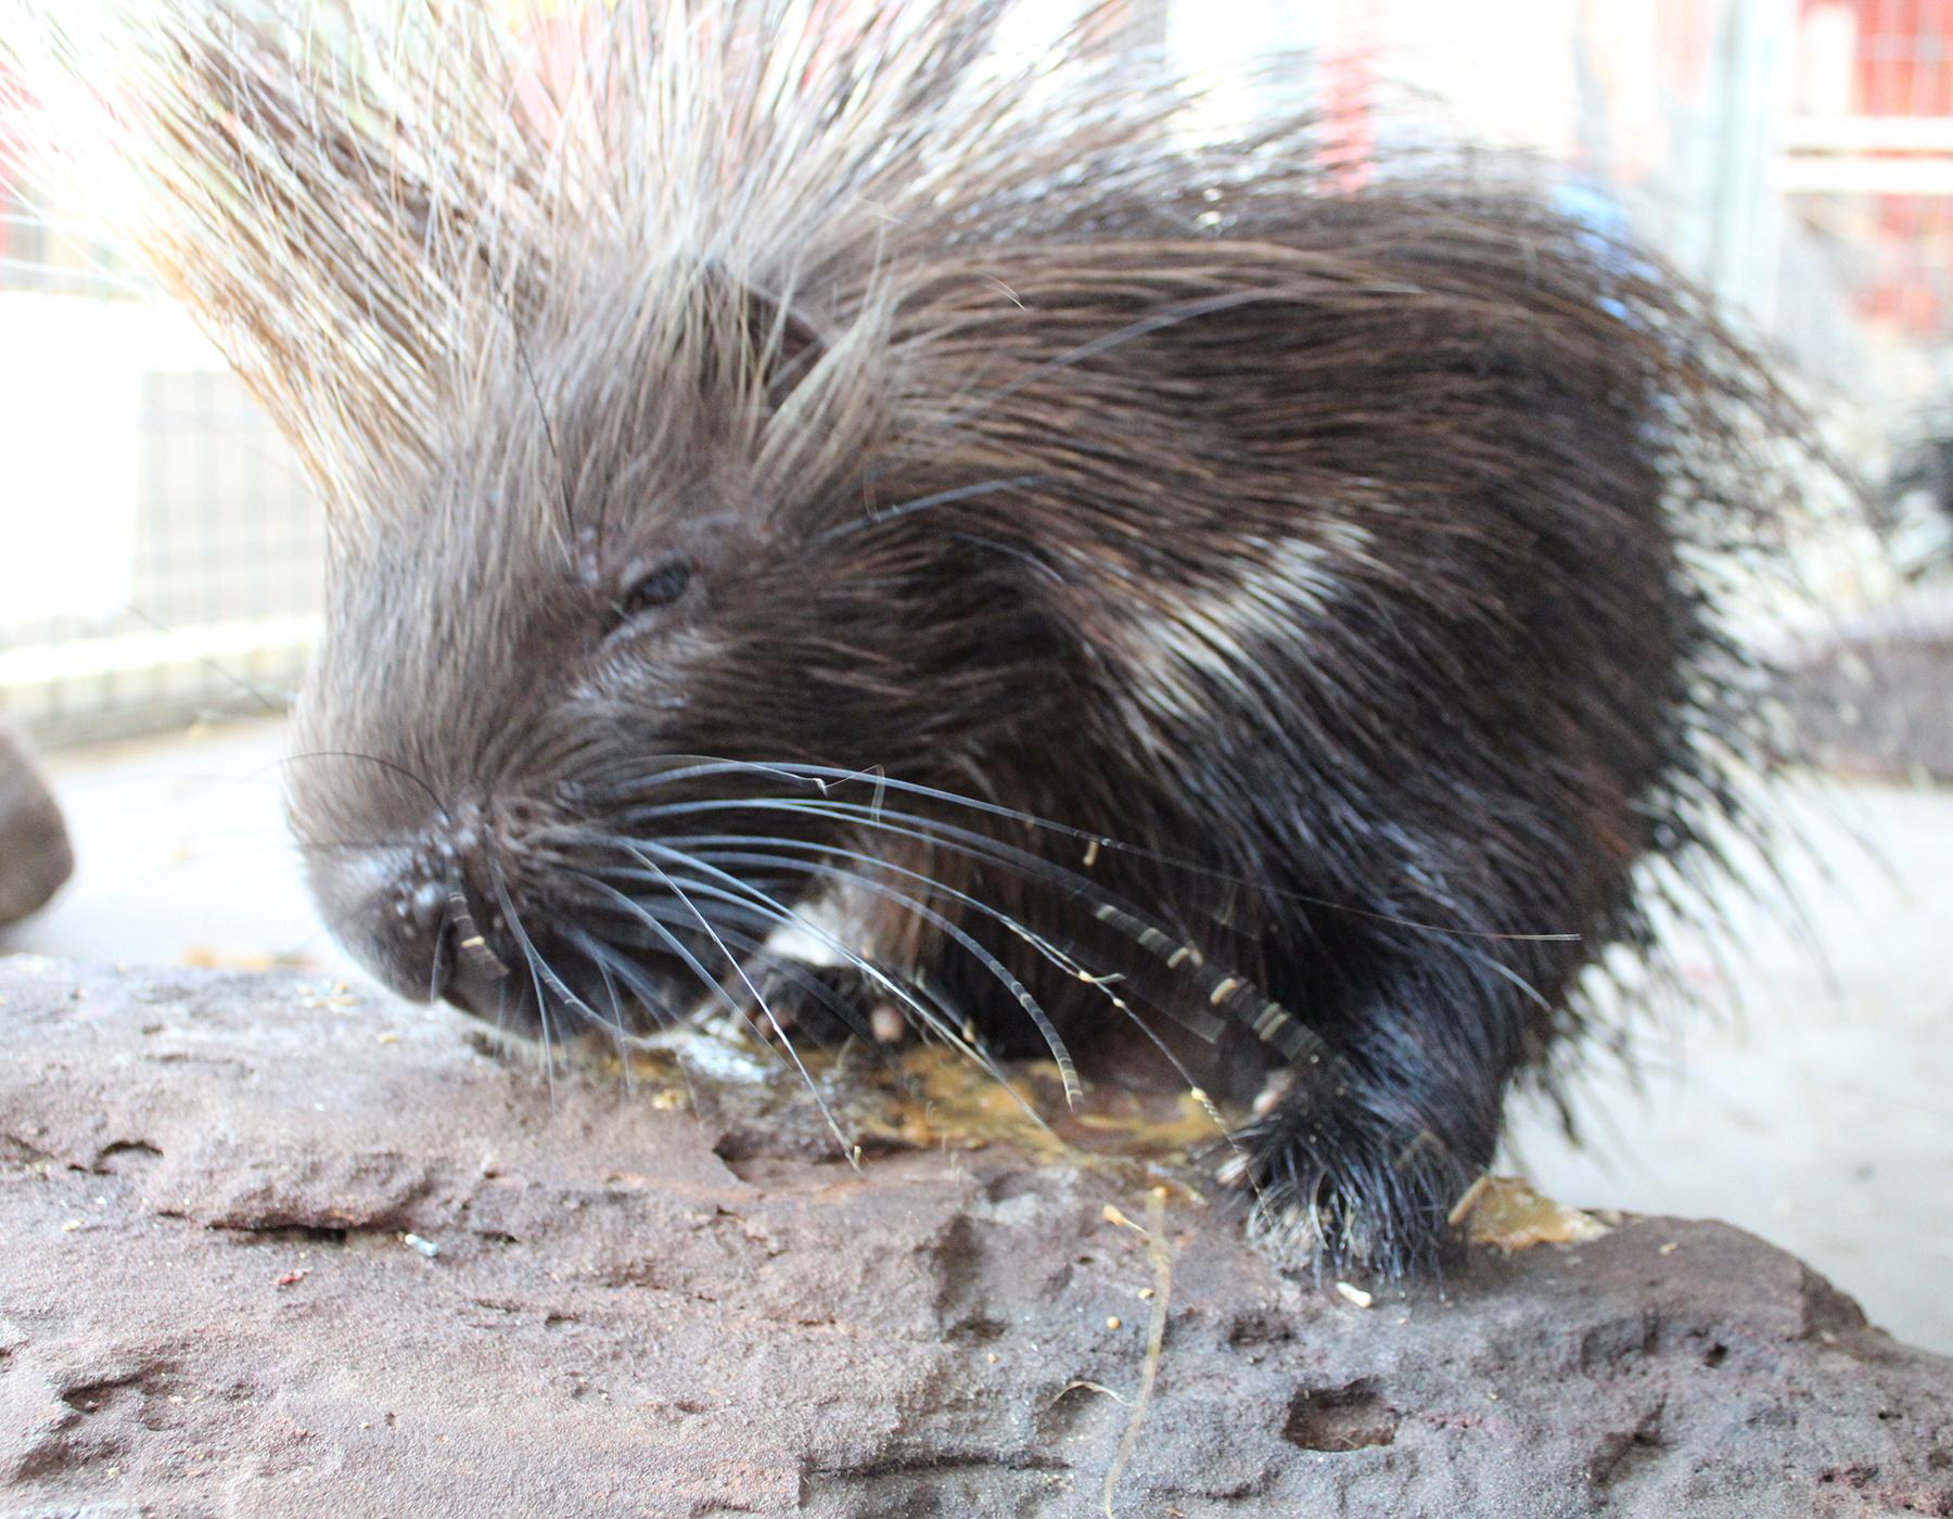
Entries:
<svg viewBox="0 0 1953 1519">
<path fill-rule="evenodd" d="M 1387 738 L 1365 746 L 1359 722 L 1332 713 L 1312 738 L 1326 781 L 1297 799 L 1287 834 L 1269 824 L 1297 840 L 1287 886 L 1307 902 L 1269 902 L 1266 990 L 1326 1048 L 1297 1060 L 1293 1088 L 1236 1136 L 1228 1175 L 1256 1191 L 1258 1222 L 1316 1265 L 1441 1257 L 1447 1214 L 1492 1162 L 1514 1076 L 1574 1031 L 1582 966 L 1637 939 L 1633 869 L 1682 744 L 1687 627 L 1662 605 L 1660 553 L 1639 568 L 1633 553 L 1605 574 L 1652 588 L 1648 629 L 1568 621 L 1502 654 L 1467 625 L 1439 625 L 1402 672 L 1471 648 L 1486 685 L 1516 697 L 1473 709 L 1465 689 L 1381 683 L 1365 715 L 1394 724 Z M 1523 605 L 1519 588 L 1500 595 Z M 1389 648 L 1373 629 L 1361 636 Z"/>
</svg>

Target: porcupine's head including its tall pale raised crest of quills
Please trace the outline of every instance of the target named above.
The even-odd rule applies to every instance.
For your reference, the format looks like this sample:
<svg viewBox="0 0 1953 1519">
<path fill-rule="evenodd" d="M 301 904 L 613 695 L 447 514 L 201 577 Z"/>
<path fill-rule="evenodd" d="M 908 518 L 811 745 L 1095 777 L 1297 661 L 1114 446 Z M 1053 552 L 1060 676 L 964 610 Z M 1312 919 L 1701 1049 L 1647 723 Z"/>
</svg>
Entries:
<svg viewBox="0 0 1953 1519">
<path fill-rule="evenodd" d="M 400 994 L 547 1037 L 697 1004 L 906 847 L 850 773 L 969 789 L 1029 717 L 1021 554 L 904 531 L 1010 484 L 939 433 L 1012 293 L 916 250 L 1127 143 L 1004 123 L 996 6 L 494 10 L 61 45 L 115 82 L 152 264 L 324 486 L 287 769 L 318 904 Z"/>
</svg>

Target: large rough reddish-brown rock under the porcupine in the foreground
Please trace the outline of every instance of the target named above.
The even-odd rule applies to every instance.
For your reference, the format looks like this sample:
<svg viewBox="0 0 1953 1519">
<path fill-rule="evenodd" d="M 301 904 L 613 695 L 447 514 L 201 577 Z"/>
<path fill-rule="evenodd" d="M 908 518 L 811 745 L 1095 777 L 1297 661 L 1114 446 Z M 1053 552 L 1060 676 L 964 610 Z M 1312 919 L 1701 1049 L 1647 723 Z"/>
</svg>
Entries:
<svg viewBox="0 0 1953 1519">
<path fill-rule="evenodd" d="M 1172 1191 L 1144 1296 L 1141 1171 L 303 976 L 0 961 L 0 1515 L 1101 1513 L 1162 1306 L 1119 1515 L 1953 1515 L 1953 1361 L 1721 1224 L 1361 1308 Z"/>
</svg>

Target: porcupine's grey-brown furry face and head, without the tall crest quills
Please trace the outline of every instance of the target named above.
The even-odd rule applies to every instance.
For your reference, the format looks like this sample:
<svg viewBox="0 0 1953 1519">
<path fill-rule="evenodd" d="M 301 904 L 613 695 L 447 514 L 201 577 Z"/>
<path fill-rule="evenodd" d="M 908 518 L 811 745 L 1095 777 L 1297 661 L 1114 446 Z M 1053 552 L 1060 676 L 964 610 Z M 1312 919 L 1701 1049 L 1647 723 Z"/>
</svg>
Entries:
<svg viewBox="0 0 1953 1519">
<path fill-rule="evenodd" d="M 639 277 L 512 346 L 412 500 L 336 545 L 297 715 L 336 933 L 512 1029 L 736 990 L 898 842 L 846 773 L 947 781 L 1045 654 L 1018 566 L 893 519 L 953 486 L 883 449 L 885 312 L 826 338 L 711 269 Z"/>
</svg>

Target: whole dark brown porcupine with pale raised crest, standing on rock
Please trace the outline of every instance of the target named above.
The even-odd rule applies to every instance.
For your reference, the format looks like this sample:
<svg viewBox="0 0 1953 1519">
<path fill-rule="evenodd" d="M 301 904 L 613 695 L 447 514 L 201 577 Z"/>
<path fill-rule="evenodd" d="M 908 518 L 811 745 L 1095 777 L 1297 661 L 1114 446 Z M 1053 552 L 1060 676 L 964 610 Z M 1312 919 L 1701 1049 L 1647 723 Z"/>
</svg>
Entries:
<svg viewBox="0 0 1953 1519">
<path fill-rule="evenodd" d="M 115 80 L 150 266 L 324 492 L 289 812 L 377 976 L 1137 1047 L 1264 1091 L 1262 1230 L 1424 1267 L 1752 828 L 1717 556 L 1801 422 L 1527 174 L 1215 141 L 1006 10 L 221 0 L 39 68 Z"/>
</svg>

